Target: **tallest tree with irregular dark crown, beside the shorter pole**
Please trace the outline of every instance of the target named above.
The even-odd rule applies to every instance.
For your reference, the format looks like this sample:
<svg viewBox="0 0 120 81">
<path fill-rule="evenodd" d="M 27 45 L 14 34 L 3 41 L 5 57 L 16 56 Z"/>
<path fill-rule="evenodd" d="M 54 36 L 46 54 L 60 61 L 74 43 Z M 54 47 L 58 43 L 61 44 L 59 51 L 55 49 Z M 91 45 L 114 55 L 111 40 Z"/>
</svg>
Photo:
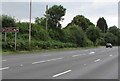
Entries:
<svg viewBox="0 0 120 81">
<path fill-rule="evenodd" d="M 50 29 L 61 29 L 60 21 L 63 20 L 66 9 L 61 5 L 54 5 L 47 10 L 48 26 Z"/>
</svg>

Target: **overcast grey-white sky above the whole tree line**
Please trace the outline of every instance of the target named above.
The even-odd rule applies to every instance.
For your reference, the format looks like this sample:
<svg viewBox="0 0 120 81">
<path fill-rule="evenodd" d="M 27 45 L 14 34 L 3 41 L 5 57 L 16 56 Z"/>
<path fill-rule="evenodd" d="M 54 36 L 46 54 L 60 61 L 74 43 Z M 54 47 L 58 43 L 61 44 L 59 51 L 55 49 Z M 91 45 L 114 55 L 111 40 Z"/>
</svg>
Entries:
<svg viewBox="0 0 120 81">
<path fill-rule="evenodd" d="M 66 8 L 62 27 L 76 15 L 84 15 L 95 25 L 100 17 L 104 17 L 109 27 L 118 26 L 118 0 L 32 0 L 32 22 L 36 17 L 44 17 L 46 5 L 62 5 Z M 10 15 L 17 21 L 29 21 L 29 0 L 4 0 L 1 10 L 0 13 Z"/>
</svg>

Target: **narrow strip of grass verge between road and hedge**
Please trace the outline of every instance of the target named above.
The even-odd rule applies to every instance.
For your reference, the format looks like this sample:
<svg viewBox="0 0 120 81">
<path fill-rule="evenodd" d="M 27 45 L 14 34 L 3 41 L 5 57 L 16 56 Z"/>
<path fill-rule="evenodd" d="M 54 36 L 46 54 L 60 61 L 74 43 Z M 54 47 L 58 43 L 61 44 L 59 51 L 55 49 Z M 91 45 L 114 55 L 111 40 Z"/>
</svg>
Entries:
<svg viewBox="0 0 120 81">
<path fill-rule="evenodd" d="M 98 47 L 92 46 L 92 47 L 78 47 L 78 48 L 40 49 L 40 50 L 31 50 L 31 51 L 2 51 L 2 55 L 16 55 L 16 54 L 28 54 L 28 53 L 30 54 L 30 53 L 38 53 L 38 52 L 49 52 L 49 51 L 91 49 L 91 48 L 98 48 Z"/>
</svg>

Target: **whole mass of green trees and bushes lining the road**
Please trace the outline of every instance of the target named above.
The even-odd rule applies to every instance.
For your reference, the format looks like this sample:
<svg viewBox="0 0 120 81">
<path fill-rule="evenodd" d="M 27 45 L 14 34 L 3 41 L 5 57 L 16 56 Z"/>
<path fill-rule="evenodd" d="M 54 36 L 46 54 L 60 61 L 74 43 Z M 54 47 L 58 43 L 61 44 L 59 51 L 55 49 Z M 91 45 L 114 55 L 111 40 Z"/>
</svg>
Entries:
<svg viewBox="0 0 120 81">
<path fill-rule="evenodd" d="M 116 26 L 108 27 L 104 17 L 100 17 L 94 25 L 83 15 L 76 15 L 66 26 L 60 24 L 64 20 L 66 8 L 61 5 L 50 7 L 44 17 L 35 18 L 32 23 L 31 47 L 29 48 L 29 23 L 17 22 L 13 17 L 2 15 L 0 19 L 2 27 L 19 27 L 17 33 L 17 51 L 14 51 L 14 33 L 2 33 L 3 53 L 31 52 L 30 50 L 50 50 L 65 48 L 86 48 L 105 45 L 110 42 L 113 45 L 120 45 L 120 29 Z M 58 13 L 59 12 L 59 13 Z M 47 30 L 46 30 L 47 18 Z"/>
</svg>

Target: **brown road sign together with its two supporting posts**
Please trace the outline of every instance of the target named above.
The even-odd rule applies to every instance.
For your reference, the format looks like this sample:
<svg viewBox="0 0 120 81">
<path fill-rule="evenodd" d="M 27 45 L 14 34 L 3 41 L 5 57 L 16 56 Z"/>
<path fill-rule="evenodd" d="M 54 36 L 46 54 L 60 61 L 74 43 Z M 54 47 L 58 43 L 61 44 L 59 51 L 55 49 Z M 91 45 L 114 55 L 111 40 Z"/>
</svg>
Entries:
<svg viewBox="0 0 120 81">
<path fill-rule="evenodd" d="M 5 41 L 6 41 L 6 34 L 7 34 L 7 32 L 14 32 L 15 33 L 15 51 L 16 51 L 17 32 L 19 32 L 19 28 L 18 27 L 0 28 L 0 32 L 4 32 L 5 33 Z"/>
</svg>

